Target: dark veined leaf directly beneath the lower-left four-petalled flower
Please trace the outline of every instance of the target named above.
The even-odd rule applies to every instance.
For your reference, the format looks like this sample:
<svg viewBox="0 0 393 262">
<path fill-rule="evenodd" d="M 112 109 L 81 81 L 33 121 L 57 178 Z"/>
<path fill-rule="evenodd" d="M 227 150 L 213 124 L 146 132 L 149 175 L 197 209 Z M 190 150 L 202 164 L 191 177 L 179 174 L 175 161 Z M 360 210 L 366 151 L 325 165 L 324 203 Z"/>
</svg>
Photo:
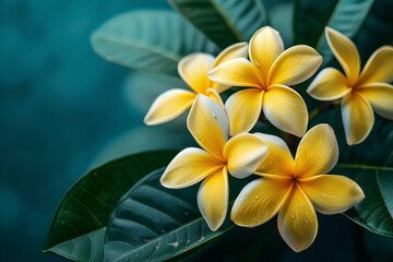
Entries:
<svg viewBox="0 0 393 262">
<path fill-rule="evenodd" d="M 106 261 L 163 261 L 191 252 L 234 227 L 226 221 L 211 231 L 198 210 L 198 186 L 166 189 L 159 183 L 163 171 L 152 172 L 119 202 L 108 224 Z"/>
</svg>

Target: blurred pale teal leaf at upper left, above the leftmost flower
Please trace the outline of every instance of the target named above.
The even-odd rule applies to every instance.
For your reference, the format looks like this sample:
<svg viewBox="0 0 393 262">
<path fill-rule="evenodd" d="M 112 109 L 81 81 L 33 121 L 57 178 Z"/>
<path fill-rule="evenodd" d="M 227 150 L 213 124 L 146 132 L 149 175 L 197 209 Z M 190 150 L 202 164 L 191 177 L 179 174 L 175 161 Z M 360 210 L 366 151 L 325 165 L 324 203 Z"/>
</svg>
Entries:
<svg viewBox="0 0 393 262">
<path fill-rule="evenodd" d="M 170 11 L 132 11 L 104 23 L 92 35 L 104 59 L 162 74 L 177 75 L 180 58 L 217 48 L 187 21 Z"/>
</svg>

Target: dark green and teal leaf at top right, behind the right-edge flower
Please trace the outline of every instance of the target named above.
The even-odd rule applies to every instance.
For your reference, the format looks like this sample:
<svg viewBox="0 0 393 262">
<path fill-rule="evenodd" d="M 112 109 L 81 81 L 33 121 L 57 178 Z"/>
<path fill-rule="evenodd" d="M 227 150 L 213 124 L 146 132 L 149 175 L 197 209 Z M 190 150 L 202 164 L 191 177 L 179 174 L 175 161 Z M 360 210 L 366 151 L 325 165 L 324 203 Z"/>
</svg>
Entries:
<svg viewBox="0 0 393 262">
<path fill-rule="evenodd" d="M 333 27 L 354 37 L 367 17 L 374 0 L 313 1 L 297 0 L 295 3 L 295 41 L 317 46 L 323 63 L 332 58 L 324 39 L 324 26 Z M 312 15 L 309 15 L 312 13 Z"/>
</svg>

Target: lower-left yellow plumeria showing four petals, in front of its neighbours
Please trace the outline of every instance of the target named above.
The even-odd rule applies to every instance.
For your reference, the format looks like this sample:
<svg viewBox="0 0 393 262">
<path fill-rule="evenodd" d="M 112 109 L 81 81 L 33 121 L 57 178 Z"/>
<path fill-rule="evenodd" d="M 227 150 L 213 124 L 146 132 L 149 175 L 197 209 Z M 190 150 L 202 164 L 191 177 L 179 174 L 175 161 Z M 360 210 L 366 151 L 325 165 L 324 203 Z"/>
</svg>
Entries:
<svg viewBox="0 0 393 262">
<path fill-rule="evenodd" d="M 228 139 L 228 119 L 211 98 L 199 95 L 187 119 L 191 134 L 203 148 L 188 147 L 168 165 L 160 182 L 166 188 L 186 188 L 203 180 L 198 206 L 212 230 L 223 224 L 228 209 L 228 171 L 243 178 L 255 171 L 266 155 L 266 144 L 257 135 Z"/>
</svg>

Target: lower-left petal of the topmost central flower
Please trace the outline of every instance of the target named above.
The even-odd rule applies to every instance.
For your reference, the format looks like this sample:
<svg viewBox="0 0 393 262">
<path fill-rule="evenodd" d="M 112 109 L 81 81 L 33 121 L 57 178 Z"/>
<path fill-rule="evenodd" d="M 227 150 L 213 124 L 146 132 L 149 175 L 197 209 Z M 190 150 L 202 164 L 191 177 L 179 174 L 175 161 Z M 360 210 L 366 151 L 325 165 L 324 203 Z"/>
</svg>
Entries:
<svg viewBox="0 0 393 262">
<path fill-rule="evenodd" d="M 248 88 L 236 92 L 225 103 L 229 118 L 229 132 L 234 136 L 252 129 L 261 115 L 263 91 Z"/>
</svg>

